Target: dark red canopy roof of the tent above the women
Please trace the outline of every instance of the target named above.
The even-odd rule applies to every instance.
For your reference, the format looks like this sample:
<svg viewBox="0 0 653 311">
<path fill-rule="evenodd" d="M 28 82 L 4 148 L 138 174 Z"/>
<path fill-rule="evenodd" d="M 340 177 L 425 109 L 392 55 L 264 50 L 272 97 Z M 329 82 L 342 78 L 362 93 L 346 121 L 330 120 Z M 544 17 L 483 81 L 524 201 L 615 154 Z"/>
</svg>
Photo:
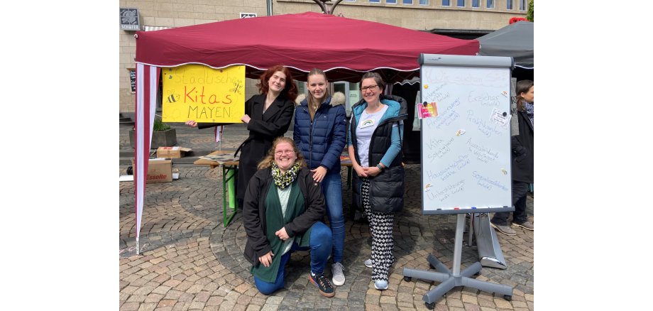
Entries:
<svg viewBox="0 0 653 311">
<path fill-rule="evenodd" d="M 318 67 L 333 81 L 358 82 L 375 70 L 387 82 L 419 75 L 420 53 L 476 55 L 477 40 L 461 40 L 383 23 L 323 13 L 297 13 L 138 31 L 136 62 L 158 67 L 246 65 L 246 76 L 281 64 L 304 80 Z"/>
</svg>

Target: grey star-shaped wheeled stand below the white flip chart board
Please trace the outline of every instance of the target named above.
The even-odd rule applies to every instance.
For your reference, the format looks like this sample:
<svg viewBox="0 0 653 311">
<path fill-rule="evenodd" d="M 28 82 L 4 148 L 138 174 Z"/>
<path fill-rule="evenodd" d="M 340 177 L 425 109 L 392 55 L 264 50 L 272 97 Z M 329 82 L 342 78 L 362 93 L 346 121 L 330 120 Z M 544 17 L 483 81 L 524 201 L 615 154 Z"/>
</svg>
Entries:
<svg viewBox="0 0 653 311">
<path fill-rule="evenodd" d="M 510 286 L 470 278 L 472 275 L 481 274 L 481 268 L 483 268 L 483 266 L 481 266 L 480 262 L 477 261 L 471 266 L 465 268 L 465 270 L 460 271 L 461 254 L 463 251 L 464 228 L 465 214 L 458 214 L 456 218 L 456 239 L 454 241 L 454 265 L 452 267 L 454 270 L 453 272 L 449 271 L 449 269 L 444 266 L 444 263 L 441 263 L 441 261 L 435 258 L 435 256 L 432 254 L 429 254 L 427 261 L 429 261 L 431 266 L 439 272 L 404 268 L 404 280 L 407 282 L 410 282 L 412 278 L 441 282 L 422 297 L 422 300 L 424 300 L 424 303 L 429 310 L 433 310 L 435 308 L 436 300 L 438 300 L 441 296 L 446 295 L 449 290 L 457 286 L 467 286 L 469 288 L 476 288 L 488 293 L 503 294 L 503 298 L 505 300 L 512 300 L 512 288 Z"/>
</svg>

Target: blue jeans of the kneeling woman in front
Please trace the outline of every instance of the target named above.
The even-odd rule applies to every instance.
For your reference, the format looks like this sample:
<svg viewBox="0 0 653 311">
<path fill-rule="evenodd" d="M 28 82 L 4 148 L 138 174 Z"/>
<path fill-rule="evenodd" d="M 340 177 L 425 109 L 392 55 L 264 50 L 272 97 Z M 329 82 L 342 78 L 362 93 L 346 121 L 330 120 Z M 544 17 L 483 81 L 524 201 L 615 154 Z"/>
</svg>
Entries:
<svg viewBox="0 0 653 311">
<path fill-rule="evenodd" d="M 331 229 L 323 222 L 316 222 L 311 227 L 311 237 L 309 239 L 308 247 L 300 247 L 297 243 L 293 243 L 290 251 L 281 256 L 281 263 L 279 265 L 279 272 L 277 279 L 274 283 L 268 283 L 254 275 L 254 284 L 260 293 L 263 295 L 270 295 L 280 288 L 283 288 L 285 264 L 290 259 L 290 254 L 293 251 L 309 251 L 311 252 L 311 272 L 319 275 L 324 272 L 324 265 L 327 264 L 329 253 L 331 253 Z"/>
</svg>

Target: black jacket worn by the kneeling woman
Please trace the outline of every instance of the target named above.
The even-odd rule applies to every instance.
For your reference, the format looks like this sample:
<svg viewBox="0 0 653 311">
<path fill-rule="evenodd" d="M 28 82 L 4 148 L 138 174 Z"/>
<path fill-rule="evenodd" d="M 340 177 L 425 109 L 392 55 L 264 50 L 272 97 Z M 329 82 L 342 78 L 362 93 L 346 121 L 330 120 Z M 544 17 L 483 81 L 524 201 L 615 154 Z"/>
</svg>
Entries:
<svg viewBox="0 0 653 311">
<path fill-rule="evenodd" d="M 258 266 L 258 257 L 272 251 L 265 236 L 265 197 L 271 184 L 270 168 L 258 170 L 249 181 L 245 194 L 243 227 L 247 233 L 247 243 L 243 255 L 254 266 Z M 316 222 L 322 221 L 327 211 L 322 187 L 313 180 L 309 169 L 302 168 L 297 173 L 297 184 L 304 195 L 304 212 L 284 226 L 290 237 L 302 234 Z"/>
</svg>

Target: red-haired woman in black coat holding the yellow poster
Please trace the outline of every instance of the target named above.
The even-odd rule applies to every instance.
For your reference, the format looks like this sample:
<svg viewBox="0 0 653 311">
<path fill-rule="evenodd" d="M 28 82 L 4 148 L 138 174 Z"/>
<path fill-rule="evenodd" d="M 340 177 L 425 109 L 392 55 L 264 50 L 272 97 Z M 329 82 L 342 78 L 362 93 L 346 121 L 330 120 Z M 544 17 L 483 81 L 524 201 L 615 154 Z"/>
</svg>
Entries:
<svg viewBox="0 0 653 311">
<path fill-rule="evenodd" d="M 297 84 L 287 67 L 275 65 L 265 70 L 256 84 L 260 94 L 245 102 L 245 115 L 241 121 L 247 124 L 248 138 L 241 143 L 235 154 L 241 152 L 238 160 L 238 185 L 236 197 L 238 208 L 242 208 L 245 189 L 249 179 L 256 173 L 256 165 L 265 157 L 272 141 L 283 136 L 290 127 L 293 102 L 297 98 Z M 188 126 L 195 127 L 197 122 L 187 121 Z M 202 124 L 202 128 L 216 124 Z"/>
</svg>

